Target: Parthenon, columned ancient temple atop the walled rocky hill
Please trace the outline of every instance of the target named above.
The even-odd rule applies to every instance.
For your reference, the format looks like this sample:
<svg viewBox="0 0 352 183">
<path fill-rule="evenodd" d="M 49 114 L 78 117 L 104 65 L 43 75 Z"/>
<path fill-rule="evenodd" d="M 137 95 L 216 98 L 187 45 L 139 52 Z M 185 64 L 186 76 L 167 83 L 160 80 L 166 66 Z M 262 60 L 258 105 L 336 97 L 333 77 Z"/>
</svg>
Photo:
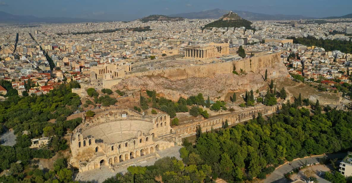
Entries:
<svg viewBox="0 0 352 183">
<path fill-rule="evenodd" d="M 210 43 L 184 47 L 184 57 L 190 58 L 210 58 L 229 53 L 227 43 Z"/>
</svg>

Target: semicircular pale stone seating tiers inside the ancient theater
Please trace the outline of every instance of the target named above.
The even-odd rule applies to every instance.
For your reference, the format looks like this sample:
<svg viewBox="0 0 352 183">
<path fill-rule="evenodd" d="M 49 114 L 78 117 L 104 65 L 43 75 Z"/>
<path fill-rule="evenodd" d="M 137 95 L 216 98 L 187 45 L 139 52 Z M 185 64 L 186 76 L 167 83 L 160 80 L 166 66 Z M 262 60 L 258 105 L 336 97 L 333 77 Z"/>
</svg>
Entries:
<svg viewBox="0 0 352 183">
<path fill-rule="evenodd" d="M 82 135 L 83 138 L 90 135 L 105 144 L 112 144 L 136 138 L 138 131 L 147 134 L 152 128 L 151 122 L 142 120 L 110 121 L 88 128 Z"/>
</svg>

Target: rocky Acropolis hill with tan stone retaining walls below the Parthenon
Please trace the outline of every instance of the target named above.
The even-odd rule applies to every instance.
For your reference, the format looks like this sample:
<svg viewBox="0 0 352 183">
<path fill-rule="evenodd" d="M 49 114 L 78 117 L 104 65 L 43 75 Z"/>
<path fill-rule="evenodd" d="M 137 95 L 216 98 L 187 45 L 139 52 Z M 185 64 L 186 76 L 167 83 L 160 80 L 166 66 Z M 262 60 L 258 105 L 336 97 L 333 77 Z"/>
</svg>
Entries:
<svg viewBox="0 0 352 183">
<path fill-rule="evenodd" d="M 121 77 L 106 78 L 105 75 L 103 79 L 97 78 L 102 83 L 97 87 L 113 90 L 155 90 L 172 100 L 177 100 L 180 96 L 187 98 L 195 93 L 203 93 L 210 99 L 223 100 L 229 92 L 243 92 L 265 87 L 267 84 L 264 82 L 265 70 L 268 70 L 268 79 L 288 76 L 287 69 L 280 58 L 280 52 L 238 61 L 202 65 L 184 64 L 186 62 L 184 59 L 158 62 L 161 62 L 163 67 L 155 63 L 154 70 L 134 72 L 136 64 L 133 64 L 132 71 L 124 69 L 126 73 L 120 74 Z M 187 66 L 182 67 L 182 64 L 177 64 L 181 62 Z M 238 75 L 233 74 L 233 70 Z M 85 88 L 84 85 L 83 88 Z"/>
</svg>

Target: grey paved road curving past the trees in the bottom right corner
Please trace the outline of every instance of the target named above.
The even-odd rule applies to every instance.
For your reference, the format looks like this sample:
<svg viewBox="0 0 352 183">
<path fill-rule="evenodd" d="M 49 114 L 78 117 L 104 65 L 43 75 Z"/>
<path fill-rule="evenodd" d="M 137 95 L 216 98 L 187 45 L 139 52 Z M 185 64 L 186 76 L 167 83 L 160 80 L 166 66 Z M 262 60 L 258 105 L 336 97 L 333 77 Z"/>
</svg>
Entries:
<svg viewBox="0 0 352 183">
<path fill-rule="evenodd" d="M 291 165 L 289 164 L 284 164 L 280 166 L 280 168 L 276 169 L 274 172 L 272 172 L 265 180 L 264 183 L 286 183 L 287 180 L 284 178 L 284 175 L 291 170 L 298 168 L 304 163 L 307 164 L 313 164 L 313 163 L 319 163 L 319 159 L 326 157 L 326 158 L 343 158 L 346 156 L 346 153 L 336 153 L 336 154 L 327 154 L 327 155 L 322 155 L 322 156 L 316 156 L 316 157 L 308 157 L 304 159 L 299 159 L 291 162 Z M 320 181 L 319 181 L 320 182 Z"/>
</svg>

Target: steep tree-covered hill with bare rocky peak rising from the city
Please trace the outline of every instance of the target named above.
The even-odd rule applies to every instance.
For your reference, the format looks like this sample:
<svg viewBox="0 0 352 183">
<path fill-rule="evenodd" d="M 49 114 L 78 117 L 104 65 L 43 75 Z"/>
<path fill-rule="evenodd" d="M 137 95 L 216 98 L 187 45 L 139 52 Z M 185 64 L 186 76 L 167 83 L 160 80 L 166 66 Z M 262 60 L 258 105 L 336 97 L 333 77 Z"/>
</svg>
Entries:
<svg viewBox="0 0 352 183">
<path fill-rule="evenodd" d="M 253 29 L 251 25 L 252 22 L 241 18 L 236 13 L 229 12 L 220 17 L 219 20 L 205 25 L 203 29 L 211 29 L 212 27 L 245 27 L 246 29 Z"/>
</svg>

